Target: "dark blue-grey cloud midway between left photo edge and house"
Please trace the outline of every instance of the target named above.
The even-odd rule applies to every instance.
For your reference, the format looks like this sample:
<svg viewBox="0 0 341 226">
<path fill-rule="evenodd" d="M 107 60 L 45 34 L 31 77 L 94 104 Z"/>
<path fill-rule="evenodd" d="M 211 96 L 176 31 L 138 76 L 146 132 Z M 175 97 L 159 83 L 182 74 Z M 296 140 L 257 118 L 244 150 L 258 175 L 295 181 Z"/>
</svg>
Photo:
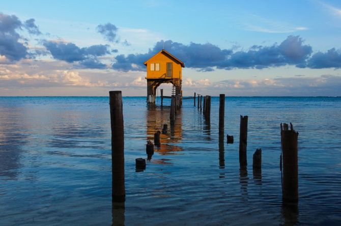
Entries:
<svg viewBox="0 0 341 226">
<path fill-rule="evenodd" d="M 79 48 L 74 43 L 63 43 L 44 41 L 43 45 L 54 59 L 66 61 L 68 63 L 80 62 L 80 66 L 84 68 L 105 68 L 97 56 L 110 53 L 108 45 L 92 45 L 89 47 Z"/>
</svg>

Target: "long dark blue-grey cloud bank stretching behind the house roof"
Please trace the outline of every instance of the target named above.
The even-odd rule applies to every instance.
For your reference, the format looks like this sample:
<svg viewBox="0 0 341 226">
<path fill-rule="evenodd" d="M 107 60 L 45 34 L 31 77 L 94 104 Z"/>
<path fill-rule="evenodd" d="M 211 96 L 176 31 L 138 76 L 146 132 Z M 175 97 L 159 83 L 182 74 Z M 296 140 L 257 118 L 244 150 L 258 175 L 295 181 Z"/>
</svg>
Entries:
<svg viewBox="0 0 341 226">
<path fill-rule="evenodd" d="M 212 71 L 212 67 L 225 70 L 234 68 L 262 69 L 283 65 L 305 67 L 305 61 L 312 52 L 311 46 L 304 45 L 299 36 L 289 36 L 279 45 L 252 46 L 248 51 L 237 52 L 233 52 L 232 49 L 221 49 L 211 43 L 184 45 L 168 40 L 157 42 L 154 48 L 149 49 L 145 54 L 118 55 L 112 68 L 122 71 L 145 70 L 141 64 L 162 48 L 176 55 L 185 63 L 186 67 L 199 71 Z"/>
</svg>

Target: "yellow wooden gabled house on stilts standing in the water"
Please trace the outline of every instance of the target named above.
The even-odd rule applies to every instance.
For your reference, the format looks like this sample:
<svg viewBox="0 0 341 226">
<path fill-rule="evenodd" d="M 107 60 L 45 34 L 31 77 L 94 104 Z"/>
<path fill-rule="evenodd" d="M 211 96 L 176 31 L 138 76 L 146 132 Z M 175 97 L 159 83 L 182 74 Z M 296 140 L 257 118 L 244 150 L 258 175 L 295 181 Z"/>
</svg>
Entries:
<svg viewBox="0 0 341 226">
<path fill-rule="evenodd" d="M 155 103 L 156 89 L 161 83 L 172 83 L 175 94 L 181 95 L 182 68 L 185 64 L 162 49 L 144 63 L 147 66 L 147 102 Z"/>
</svg>

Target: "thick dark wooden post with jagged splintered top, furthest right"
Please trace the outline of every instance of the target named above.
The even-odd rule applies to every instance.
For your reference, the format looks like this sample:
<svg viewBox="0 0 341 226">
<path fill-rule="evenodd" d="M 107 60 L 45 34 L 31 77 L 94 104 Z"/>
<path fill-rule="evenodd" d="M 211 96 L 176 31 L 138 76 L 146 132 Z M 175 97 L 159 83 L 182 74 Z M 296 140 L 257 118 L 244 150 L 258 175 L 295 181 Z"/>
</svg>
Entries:
<svg viewBox="0 0 341 226">
<path fill-rule="evenodd" d="M 284 128 L 283 128 L 284 127 Z M 283 159 L 283 202 L 298 202 L 298 161 L 297 161 L 297 140 L 298 132 L 293 129 L 290 123 L 280 124 L 280 137 Z"/>
</svg>

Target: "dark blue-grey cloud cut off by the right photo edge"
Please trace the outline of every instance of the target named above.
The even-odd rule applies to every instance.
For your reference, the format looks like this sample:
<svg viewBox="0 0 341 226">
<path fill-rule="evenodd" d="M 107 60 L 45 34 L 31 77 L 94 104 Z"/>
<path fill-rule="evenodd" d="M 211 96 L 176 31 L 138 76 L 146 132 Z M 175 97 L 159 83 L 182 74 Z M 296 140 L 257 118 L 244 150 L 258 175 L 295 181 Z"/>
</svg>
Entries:
<svg viewBox="0 0 341 226">
<path fill-rule="evenodd" d="M 308 68 L 341 68 L 341 49 L 317 52 L 307 62 Z"/>
</svg>

